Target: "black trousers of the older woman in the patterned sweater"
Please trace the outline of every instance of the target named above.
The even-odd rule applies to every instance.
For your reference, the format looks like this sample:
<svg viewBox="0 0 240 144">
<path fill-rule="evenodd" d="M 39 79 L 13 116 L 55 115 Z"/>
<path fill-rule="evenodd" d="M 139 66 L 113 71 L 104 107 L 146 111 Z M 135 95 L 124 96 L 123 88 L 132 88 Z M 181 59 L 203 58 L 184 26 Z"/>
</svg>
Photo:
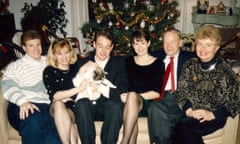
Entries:
<svg viewBox="0 0 240 144">
<path fill-rule="evenodd" d="M 221 120 L 212 120 L 200 123 L 196 119 L 183 118 L 175 127 L 172 135 L 172 144 L 204 144 L 202 136 L 210 134 L 226 123 L 227 117 Z"/>
</svg>

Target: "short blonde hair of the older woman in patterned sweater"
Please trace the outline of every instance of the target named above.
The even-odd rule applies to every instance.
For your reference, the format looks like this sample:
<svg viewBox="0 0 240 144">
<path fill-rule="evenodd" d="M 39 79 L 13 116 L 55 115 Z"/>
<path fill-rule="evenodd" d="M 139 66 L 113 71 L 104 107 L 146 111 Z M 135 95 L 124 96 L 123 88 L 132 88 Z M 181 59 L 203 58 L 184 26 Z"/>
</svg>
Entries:
<svg viewBox="0 0 240 144">
<path fill-rule="evenodd" d="M 217 27 L 213 25 L 203 25 L 195 34 L 195 40 L 198 39 L 210 39 L 211 41 L 215 42 L 216 45 L 220 46 L 222 37 Z"/>
</svg>

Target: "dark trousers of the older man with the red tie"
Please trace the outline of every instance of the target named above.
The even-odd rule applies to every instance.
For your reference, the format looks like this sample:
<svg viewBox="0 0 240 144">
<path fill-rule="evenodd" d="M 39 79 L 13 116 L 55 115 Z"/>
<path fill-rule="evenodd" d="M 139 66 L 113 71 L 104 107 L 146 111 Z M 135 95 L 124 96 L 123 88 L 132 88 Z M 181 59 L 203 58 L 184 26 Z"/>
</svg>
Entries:
<svg viewBox="0 0 240 144">
<path fill-rule="evenodd" d="M 151 143 L 169 144 L 172 131 L 183 117 L 175 95 L 166 91 L 160 101 L 151 101 L 148 108 L 148 126 Z"/>
</svg>

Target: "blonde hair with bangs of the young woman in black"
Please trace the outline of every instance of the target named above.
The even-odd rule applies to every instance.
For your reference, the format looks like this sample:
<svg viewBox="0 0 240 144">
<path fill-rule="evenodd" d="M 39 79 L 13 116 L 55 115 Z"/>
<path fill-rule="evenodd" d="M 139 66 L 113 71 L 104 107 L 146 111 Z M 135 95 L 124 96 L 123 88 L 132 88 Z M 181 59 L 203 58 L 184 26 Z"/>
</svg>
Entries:
<svg viewBox="0 0 240 144">
<path fill-rule="evenodd" d="M 60 53 L 63 48 L 67 47 L 71 53 L 70 64 L 74 64 L 77 61 L 77 54 L 74 52 L 71 42 L 65 38 L 54 40 L 47 53 L 47 63 L 50 66 L 58 67 L 57 60 L 55 58 L 56 53 Z"/>
</svg>

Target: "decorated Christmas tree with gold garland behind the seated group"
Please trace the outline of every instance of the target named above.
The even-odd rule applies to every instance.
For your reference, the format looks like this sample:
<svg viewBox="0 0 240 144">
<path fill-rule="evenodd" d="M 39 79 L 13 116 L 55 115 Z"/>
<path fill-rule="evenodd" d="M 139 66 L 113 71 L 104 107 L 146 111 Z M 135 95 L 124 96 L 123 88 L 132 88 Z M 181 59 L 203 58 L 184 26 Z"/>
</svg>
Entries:
<svg viewBox="0 0 240 144">
<path fill-rule="evenodd" d="M 92 0 L 93 19 L 81 28 L 86 42 L 92 45 L 95 32 L 108 29 L 114 35 L 115 55 L 132 54 L 131 33 L 139 28 L 151 34 L 151 51 L 162 47 L 161 34 L 177 22 L 178 3 L 173 0 Z"/>
</svg>

